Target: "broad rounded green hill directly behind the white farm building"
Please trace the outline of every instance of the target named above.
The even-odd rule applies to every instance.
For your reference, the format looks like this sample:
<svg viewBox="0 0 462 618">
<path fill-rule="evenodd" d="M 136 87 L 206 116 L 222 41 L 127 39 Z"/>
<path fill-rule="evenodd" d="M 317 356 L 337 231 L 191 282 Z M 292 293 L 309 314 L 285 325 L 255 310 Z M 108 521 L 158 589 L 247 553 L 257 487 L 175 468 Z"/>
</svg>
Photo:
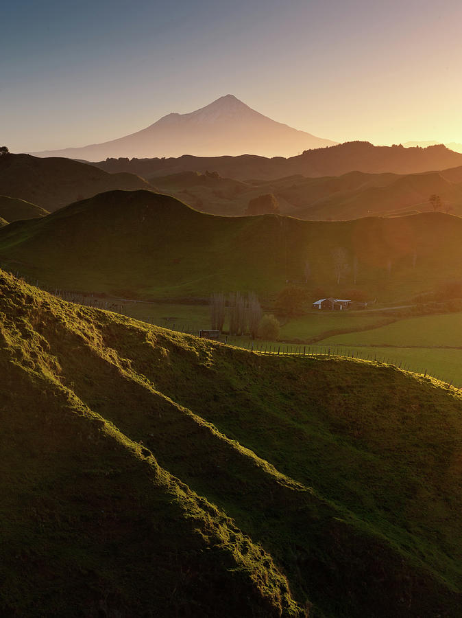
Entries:
<svg viewBox="0 0 462 618">
<path fill-rule="evenodd" d="M 461 234 L 460 218 L 433 212 L 345 222 L 223 218 L 169 196 L 108 192 L 8 225 L 0 262 L 49 286 L 145 298 L 271 295 L 288 281 L 304 284 L 308 262 L 310 289 L 339 296 L 356 288 L 390 302 L 458 279 Z"/>
</svg>

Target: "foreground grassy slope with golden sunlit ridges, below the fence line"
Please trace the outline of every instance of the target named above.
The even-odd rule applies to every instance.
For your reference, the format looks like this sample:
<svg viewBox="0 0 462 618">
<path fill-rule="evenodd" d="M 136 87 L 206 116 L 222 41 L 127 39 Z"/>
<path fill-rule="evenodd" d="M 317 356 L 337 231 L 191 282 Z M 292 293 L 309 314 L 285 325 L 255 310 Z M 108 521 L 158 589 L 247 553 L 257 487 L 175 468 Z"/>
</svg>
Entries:
<svg viewBox="0 0 462 618">
<path fill-rule="evenodd" d="M 0 370 L 3 613 L 459 615 L 450 391 L 183 336 L 4 273 Z"/>
</svg>

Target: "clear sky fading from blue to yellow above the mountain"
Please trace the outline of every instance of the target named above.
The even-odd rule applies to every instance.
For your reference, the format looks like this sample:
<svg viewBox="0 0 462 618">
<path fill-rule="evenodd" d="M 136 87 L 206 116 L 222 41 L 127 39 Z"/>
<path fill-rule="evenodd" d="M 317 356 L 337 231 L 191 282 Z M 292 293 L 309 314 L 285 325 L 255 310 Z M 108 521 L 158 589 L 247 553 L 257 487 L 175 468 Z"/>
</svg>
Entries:
<svg viewBox="0 0 462 618">
<path fill-rule="evenodd" d="M 232 93 L 318 137 L 462 143 L 461 0 L 14 0 L 0 142 L 85 146 Z"/>
</svg>

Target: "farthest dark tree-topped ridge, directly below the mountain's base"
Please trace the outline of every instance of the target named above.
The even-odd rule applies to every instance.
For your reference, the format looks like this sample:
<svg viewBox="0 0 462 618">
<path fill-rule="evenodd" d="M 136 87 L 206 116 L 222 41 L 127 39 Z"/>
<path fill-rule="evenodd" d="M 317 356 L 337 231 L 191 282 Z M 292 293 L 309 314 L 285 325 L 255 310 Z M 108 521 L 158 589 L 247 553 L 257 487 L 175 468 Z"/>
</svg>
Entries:
<svg viewBox="0 0 462 618">
<path fill-rule="evenodd" d="M 373 146 L 367 141 L 349 141 L 337 146 L 306 150 L 297 157 L 192 157 L 178 159 L 108 159 L 95 163 L 108 172 L 132 172 L 144 178 L 167 176 L 179 172 L 212 170 L 221 176 L 240 181 L 270 180 L 283 176 L 340 176 L 348 172 L 368 174 L 417 174 L 446 170 L 462 165 L 462 154 L 445 146 L 403 148 L 402 146 Z"/>
</svg>

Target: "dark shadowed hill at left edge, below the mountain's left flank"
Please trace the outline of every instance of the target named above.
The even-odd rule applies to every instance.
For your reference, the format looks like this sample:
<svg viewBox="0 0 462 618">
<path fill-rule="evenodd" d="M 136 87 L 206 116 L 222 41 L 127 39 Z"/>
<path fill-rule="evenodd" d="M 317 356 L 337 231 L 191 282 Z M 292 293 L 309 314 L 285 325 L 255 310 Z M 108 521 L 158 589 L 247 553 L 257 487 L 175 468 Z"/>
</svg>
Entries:
<svg viewBox="0 0 462 618">
<path fill-rule="evenodd" d="M 152 188 L 134 174 L 108 174 L 71 159 L 11 154 L 0 157 L 0 195 L 19 198 L 49 211 L 102 191 Z"/>
</svg>

